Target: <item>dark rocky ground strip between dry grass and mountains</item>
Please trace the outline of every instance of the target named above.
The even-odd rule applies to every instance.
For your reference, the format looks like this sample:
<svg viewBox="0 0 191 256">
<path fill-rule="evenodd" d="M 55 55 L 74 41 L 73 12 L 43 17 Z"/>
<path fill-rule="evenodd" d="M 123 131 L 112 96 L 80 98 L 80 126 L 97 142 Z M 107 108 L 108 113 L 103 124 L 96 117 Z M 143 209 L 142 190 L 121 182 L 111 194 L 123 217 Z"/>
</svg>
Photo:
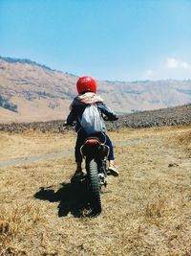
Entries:
<svg viewBox="0 0 191 256">
<path fill-rule="evenodd" d="M 63 124 L 64 120 L 0 124 L 0 130 L 22 132 L 30 129 L 41 130 L 42 132 L 65 132 L 66 128 L 63 128 Z M 121 115 L 117 122 L 107 122 L 107 128 L 108 130 L 116 130 L 117 128 L 151 128 L 190 124 L 191 104 Z"/>
</svg>

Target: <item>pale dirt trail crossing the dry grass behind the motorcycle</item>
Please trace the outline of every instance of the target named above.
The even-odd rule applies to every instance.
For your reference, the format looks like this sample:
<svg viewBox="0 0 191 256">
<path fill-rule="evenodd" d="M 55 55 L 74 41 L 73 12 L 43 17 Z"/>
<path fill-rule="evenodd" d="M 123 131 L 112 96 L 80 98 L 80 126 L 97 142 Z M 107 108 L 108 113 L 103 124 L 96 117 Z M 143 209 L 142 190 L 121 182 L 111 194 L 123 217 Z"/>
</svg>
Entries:
<svg viewBox="0 0 191 256">
<path fill-rule="evenodd" d="M 157 137 L 164 137 L 164 136 L 157 136 Z M 114 143 L 114 146 L 126 146 L 126 145 L 134 145 L 141 141 L 151 141 L 155 139 L 156 136 L 150 137 L 150 138 L 137 138 L 132 140 L 125 140 Z M 33 162 L 37 161 L 45 161 L 45 160 L 51 160 L 51 159 L 59 159 L 62 157 L 70 156 L 74 153 L 73 149 L 67 150 L 67 151 L 60 151 L 60 152 L 48 152 L 48 153 L 37 153 L 33 154 L 28 157 L 17 157 L 13 159 L 7 159 L 0 161 L 0 168 L 7 168 L 11 166 L 22 166 L 22 165 L 29 165 Z"/>
</svg>

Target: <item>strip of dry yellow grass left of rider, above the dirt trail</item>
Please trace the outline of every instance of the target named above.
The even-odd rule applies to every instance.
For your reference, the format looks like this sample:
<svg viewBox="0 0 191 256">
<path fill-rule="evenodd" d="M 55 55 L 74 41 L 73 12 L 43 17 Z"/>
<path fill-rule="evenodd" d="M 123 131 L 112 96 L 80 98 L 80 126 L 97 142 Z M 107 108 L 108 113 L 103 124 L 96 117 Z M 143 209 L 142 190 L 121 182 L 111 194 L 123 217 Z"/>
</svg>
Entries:
<svg viewBox="0 0 191 256">
<path fill-rule="evenodd" d="M 71 148 L 74 132 L 67 134 L 27 131 L 23 133 L 0 133 L 0 160 L 27 157 L 36 153 L 56 152 Z"/>
</svg>

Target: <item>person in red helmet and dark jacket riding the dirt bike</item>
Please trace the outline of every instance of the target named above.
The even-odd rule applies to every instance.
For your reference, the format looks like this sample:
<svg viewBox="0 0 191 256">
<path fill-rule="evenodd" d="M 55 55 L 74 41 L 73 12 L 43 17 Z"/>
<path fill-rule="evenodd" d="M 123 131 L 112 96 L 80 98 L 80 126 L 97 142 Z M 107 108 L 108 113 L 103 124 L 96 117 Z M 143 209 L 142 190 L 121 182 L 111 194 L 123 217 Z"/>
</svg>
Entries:
<svg viewBox="0 0 191 256">
<path fill-rule="evenodd" d="M 101 116 L 107 116 L 108 120 L 116 121 L 118 119 L 117 114 L 113 112 L 108 106 L 103 103 L 100 96 L 96 94 L 96 81 L 92 77 L 81 77 L 76 82 L 76 89 L 78 95 L 74 98 L 72 105 L 70 106 L 70 114 L 67 118 L 66 125 L 73 125 L 76 121 L 75 131 L 77 132 L 77 139 L 75 144 L 75 162 L 77 165 L 74 175 L 83 174 L 82 172 L 82 156 L 80 153 L 80 147 L 83 145 L 85 138 L 88 134 L 81 127 L 79 118 L 81 118 L 83 111 L 87 105 L 96 105 Z M 101 117 L 102 118 L 102 117 Z M 109 173 L 111 175 L 118 175 L 117 168 L 115 167 L 114 149 L 110 138 L 105 134 L 106 129 L 96 134 L 101 141 L 105 141 L 105 144 L 110 148 L 108 155 L 109 161 Z"/>
</svg>

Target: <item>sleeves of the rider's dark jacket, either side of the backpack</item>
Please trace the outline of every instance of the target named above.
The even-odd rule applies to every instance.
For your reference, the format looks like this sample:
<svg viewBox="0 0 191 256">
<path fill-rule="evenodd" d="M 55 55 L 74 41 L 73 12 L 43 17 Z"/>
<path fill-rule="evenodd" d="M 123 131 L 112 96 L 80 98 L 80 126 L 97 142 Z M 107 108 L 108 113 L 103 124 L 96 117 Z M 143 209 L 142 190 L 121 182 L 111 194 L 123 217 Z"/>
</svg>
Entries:
<svg viewBox="0 0 191 256">
<path fill-rule="evenodd" d="M 101 113 L 101 116 L 104 115 L 107 116 L 108 121 L 116 121 L 118 119 L 117 114 L 113 112 L 107 105 L 103 103 L 97 103 L 97 108 Z M 80 103 L 78 101 L 75 101 L 75 104 L 73 105 L 73 108 L 67 117 L 67 125 L 73 125 L 74 121 L 76 122 L 75 131 L 78 131 L 81 129 L 81 125 L 79 123 L 79 119 L 82 116 L 83 111 L 85 110 L 87 105 Z"/>
</svg>

